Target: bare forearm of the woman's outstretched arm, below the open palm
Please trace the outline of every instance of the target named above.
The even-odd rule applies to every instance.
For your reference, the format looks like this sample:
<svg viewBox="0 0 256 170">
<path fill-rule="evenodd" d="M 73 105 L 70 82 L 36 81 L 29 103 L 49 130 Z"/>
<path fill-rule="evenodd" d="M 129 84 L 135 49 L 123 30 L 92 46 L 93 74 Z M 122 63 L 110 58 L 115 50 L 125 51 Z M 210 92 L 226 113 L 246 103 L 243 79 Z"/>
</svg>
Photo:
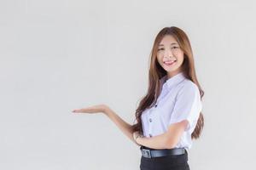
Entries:
<svg viewBox="0 0 256 170">
<path fill-rule="evenodd" d="M 104 112 L 106 116 L 109 117 L 109 119 L 116 124 L 117 127 L 122 131 L 122 133 L 125 134 L 129 139 L 131 139 L 134 143 L 136 141 L 133 139 L 132 136 L 132 129 L 131 129 L 131 124 L 125 122 L 121 117 L 119 117 L 113 110 L 110 108 L 106 109 Z"/>
</svg>

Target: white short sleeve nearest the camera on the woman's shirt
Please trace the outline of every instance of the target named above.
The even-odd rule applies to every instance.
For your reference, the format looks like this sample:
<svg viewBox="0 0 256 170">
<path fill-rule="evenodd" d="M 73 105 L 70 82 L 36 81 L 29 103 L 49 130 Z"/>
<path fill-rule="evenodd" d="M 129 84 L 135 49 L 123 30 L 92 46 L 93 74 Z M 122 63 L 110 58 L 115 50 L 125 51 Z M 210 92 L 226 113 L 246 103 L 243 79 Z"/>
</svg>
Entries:
<svg viewBox="0 0 256 170">
<path fill-rule="evenodd" d="M 185 131 L 192 133 L 201 112 L 201 95 L 194 83 L 186 83 L 177 93 L 169 125 L 188 120 Z"/>
</svg>

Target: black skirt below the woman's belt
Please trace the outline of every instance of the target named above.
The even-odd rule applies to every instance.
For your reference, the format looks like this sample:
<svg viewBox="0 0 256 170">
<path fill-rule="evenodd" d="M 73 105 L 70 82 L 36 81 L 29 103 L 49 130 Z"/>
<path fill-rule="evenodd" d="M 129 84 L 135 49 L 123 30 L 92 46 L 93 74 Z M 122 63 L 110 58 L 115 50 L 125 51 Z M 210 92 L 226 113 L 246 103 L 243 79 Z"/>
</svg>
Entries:
<svg viewBox="0 0 256 170">
<path fill-rule="evenodd" d="M 141 170 L 189 170 L 188 152 L 183 155 L 162 157 L 141 157 Z"/>
</svg>

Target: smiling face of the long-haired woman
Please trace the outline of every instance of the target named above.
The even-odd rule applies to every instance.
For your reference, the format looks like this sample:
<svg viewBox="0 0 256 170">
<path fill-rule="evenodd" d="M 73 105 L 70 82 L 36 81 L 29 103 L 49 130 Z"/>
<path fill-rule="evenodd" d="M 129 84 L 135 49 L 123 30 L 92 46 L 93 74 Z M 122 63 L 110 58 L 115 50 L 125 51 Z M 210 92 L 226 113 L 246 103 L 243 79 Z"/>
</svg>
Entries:
<svg viewBox="0 0 256 170">
<path fill-rule="evenodd" d="M 157 60 L 161 67 L 167 72 L 167 77 L 171 78 L 182 71 L 184 54 L 176 39 L 171 35 L 162 38 L 157 51 Z"/>
</svg>

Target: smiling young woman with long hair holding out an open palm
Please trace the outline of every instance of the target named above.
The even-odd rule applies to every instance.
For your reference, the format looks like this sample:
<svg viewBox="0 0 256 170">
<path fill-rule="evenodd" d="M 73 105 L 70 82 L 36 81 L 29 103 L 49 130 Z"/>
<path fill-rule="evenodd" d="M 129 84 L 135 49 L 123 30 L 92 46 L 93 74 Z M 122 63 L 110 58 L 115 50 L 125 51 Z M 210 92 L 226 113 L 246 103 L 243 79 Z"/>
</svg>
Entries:
<svg viewBox="0 0 256 170">
<path fill-rule="evenodd" d="M 141 170 L 189 170 L 188 150 L 204 126 L 201 89 L 189 38 L 175 26 L 155 37 L 148 72 L 148 92 L 140 101 L 136 124 L 121 119 L 108 105 L 74 110 L 102 112 L 140 146 Z"/>
</svg>

